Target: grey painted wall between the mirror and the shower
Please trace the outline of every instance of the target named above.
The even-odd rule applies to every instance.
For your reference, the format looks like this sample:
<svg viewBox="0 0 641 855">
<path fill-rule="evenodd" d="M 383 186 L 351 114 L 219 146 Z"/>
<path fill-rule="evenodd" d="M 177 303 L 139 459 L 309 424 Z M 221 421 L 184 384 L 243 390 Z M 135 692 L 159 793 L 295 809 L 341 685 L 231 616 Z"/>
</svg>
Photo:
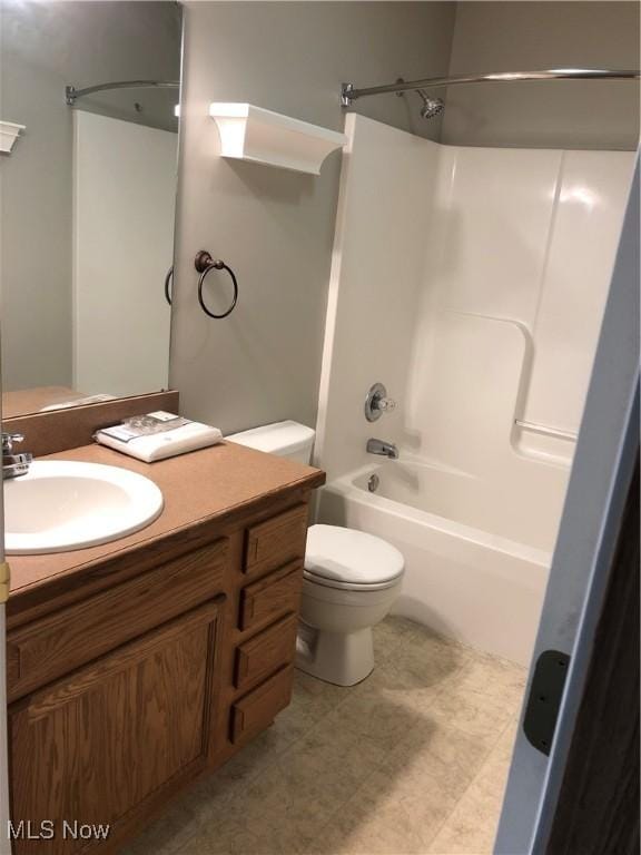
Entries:
<svg viewBox="0 0 641 855">
<path fill-rule="evenodd" d="M 447 68 L 454 4 L 188 2 L 185 21 L 171 385 L 186 415 L 225 432 L 282 419 L 314 424 L 341 154 L 318 178 L 224 160 L 208 104 L 249 101 L 342 129 L 342 81 Z M 418 105 L 389 96 L 357 109 L 437 134 Z M 224 321 L 195 298 L 201 248 L 238 275 L 238 305 Z M 210 278 L 223 306 L 225 278 Z"/>
</svg>

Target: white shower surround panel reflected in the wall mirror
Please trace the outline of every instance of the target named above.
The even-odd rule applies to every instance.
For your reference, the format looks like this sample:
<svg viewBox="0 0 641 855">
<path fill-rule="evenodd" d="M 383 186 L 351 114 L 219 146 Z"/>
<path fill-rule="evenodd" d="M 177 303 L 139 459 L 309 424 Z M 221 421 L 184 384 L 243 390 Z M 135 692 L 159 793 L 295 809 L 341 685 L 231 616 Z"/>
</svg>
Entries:
<svg viewBox="0 0 641 855">
<path fill-rule="evenodd" d="M 75 111 L 73 387 L 167 386 L 176 134 Z"/>
</svg>

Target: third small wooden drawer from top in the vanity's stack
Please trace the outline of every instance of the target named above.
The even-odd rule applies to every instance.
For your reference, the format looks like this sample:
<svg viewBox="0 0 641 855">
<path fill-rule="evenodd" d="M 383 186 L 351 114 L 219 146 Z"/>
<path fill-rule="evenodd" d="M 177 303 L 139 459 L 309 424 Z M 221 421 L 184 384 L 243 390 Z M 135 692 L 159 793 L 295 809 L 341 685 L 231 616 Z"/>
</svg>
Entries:
<svg viewBox="0 0 641 855">
<path fill-rule="evenodd" d="M 298 617 L 287 615 L 236 649 L 235 685 L 249 688 L 264 680 L 282 665 L 293 661 L 296 652 Z"/>
</svg>

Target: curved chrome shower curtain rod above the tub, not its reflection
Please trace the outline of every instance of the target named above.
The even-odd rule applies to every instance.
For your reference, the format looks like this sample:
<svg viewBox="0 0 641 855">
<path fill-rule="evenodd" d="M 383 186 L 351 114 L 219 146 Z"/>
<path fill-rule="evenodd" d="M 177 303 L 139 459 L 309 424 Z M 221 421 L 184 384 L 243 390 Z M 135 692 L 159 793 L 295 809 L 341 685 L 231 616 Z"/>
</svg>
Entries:
<svg viewBox="0 0 641 855">
<path fill-rule="evenodd" d="M 434 89 L 455 83 L 512 83 L 523 80 L 638 80 L 640 72 L 633 70 L 609 70 L 603 68 L 550 68 L 543 71 L 500 71 L 491 75 L 453 75 L 452 77 L 427 77 L 424 80 L 397 80 L 387 86 L 371 86 L 356 89 L 354 83 L 341 87 L 341 104 L 349 107 L 357 98 L 387 92 L 408 92 L 415 89 Z"/>
</svg>

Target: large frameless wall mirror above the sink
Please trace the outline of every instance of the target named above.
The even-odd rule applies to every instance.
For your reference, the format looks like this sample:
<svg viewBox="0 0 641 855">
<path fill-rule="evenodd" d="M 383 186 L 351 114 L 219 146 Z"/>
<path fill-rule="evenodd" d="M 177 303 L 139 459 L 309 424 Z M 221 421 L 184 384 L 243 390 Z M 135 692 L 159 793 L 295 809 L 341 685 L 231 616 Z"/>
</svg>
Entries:
<svg viewBox="0 0 641 855">
<path fill-rule="evenodd" d="M 0 13 L 2 415 L 167 389 L 180 6 Z"/>
</svg>

